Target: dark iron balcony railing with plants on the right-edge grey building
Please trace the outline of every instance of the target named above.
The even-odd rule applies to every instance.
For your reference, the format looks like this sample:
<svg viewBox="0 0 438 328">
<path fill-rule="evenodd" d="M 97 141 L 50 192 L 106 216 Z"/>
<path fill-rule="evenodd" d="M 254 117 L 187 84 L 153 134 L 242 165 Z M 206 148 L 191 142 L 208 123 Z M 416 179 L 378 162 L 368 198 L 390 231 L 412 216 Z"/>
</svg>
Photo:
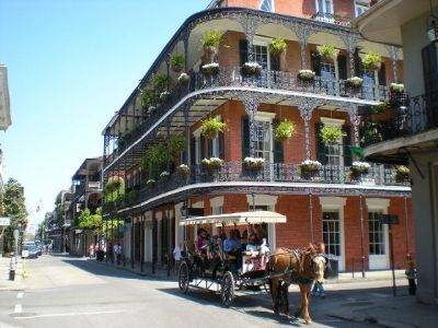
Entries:
<svg viewBox="0 0 438 328">
<path fill-rule="evenodd" d="M 397 95 L 384 112 L 378 108 L 367 107 L 360 113 L 364 147 L 438 128 L 438 93 L 411 98 Z"/>
</svg>

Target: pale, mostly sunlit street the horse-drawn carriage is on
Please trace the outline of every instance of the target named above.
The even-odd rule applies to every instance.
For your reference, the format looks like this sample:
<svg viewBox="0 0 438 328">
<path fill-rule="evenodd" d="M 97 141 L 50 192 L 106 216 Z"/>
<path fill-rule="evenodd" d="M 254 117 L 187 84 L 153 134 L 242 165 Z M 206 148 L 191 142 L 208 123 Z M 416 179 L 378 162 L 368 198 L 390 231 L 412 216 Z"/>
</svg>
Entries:
<svg viewBox="0 0 438 328">
<path fill-rule="evenodd" d="M 175 282 L 139 277 L 91 260 L 43 256 L 28 260 L 26 267 L 24 290 L 0 293 L 0 327 L 306 326 L 302 320 L 275 316 L 267 295 L 240 296 L 231 308 L 224 308 L 212 293 L 191 290 L 182 295 Z M 366 293 L 372 298 L 388 296 L 389 290 L 351 285 L 331 291 L 325 300 L 313 301 L 312 326 L 374 327 L 345 321 L 327 312 L 338 304 L 364 302 Z M 292 290 L 291 306 L 297 301 L 298 293 Z"/>
</svg>

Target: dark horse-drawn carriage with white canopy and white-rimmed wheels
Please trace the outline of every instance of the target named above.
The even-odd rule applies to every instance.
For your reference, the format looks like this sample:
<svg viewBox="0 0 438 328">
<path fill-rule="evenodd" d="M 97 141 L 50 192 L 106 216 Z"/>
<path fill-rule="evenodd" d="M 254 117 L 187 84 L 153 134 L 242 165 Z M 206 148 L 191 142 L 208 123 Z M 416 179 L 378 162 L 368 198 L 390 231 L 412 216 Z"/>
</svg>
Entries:
<svg viewBox="0 0 438 328">
<path fill-rule="evenodd" d="M 285 222 L 286 216 L 283 214 L 253 211 L 186 219 L 180 224 L 184 226 L 210 225 L 222 230 L 246 225 L 251 230 L 253 225 Z M 266 241 L 256 248 L 247 247 L 232 254 L 224 251 L 223 242 L 219 236 L 214 236 L 209 238 L 204 249 L 186 251 L 178 270 L 181 292 L 187 293 L 189 286 L 215 291 L 220 293 L 222 304 L 230 306 L 237 289 L 251 292 L 266 291 L 268 282 L 266 265 L 270 254 Z"/>
</svg>

